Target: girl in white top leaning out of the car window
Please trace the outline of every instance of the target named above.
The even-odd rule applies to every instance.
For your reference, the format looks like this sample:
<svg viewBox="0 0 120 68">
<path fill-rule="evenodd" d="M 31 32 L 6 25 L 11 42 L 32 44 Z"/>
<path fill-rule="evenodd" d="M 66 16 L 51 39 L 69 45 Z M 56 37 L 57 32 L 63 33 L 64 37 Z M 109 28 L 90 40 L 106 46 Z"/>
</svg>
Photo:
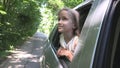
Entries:
<svg viewBox="0 0 120 68">
<path fill-rule="evenodd" d="M 63 8 L 58 13 L 58 32 L 60 32 L 60 48 L 58 57 L 67 57 L 71 62 L 78 43 L 79 13 L 74 9 Z"/>
</svg>

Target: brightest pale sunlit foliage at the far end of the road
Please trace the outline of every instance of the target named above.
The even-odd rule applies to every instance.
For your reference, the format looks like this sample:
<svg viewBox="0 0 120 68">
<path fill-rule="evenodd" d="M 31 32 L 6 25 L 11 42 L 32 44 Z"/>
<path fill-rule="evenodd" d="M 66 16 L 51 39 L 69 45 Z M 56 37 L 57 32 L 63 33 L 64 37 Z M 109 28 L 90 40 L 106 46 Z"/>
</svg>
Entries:
<svg viewBox="0 0 120 68">
<path fill-rule="evenodd" d="M 40 12 L 42 18 L 41 18 L 41 24 L 39 25 L 40 27 L 39 30 L 41 32 L 48 34 L 50 32 L 51 26 L 53 25 L 51 24 L 51 21 L 53 21 L 53 17 L 52 17 L 53 14 L 50 11 L 50 9 L 44 7 L 40 9 Z"/>
</svg>

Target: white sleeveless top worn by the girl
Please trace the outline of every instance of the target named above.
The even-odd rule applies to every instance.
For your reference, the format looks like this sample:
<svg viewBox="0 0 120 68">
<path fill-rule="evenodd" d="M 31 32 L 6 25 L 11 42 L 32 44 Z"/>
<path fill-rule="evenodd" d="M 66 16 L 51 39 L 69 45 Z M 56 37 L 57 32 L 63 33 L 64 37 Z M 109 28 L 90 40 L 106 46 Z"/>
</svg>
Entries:
<svg viewBox="0 0 120 68">
<path fill-rule="evenodd" d="M 78 36 L 74 36 L 68 43 L 65 42 L 63 34 L 60 35 L 60 45 L 63 48 L 66 48 L 72 52 L 75 50 L 75 46 L 77 45 L 75 42 L 78 42 Z"/>
</svg>

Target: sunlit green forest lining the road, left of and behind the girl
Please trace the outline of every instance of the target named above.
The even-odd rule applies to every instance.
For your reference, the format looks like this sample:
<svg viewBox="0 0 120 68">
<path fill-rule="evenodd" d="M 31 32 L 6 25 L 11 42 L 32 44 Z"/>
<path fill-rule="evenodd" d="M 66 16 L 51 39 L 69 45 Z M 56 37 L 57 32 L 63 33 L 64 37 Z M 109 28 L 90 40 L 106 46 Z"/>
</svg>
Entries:
<svg viewBox="0 0 120 68">
<path fill-rule="evenodd" d="M 8 55 L 36 31 L 49 35 L 57 22 L 57 12 L 83 1 L 0 0 L 0 57 Z"/>
</svg>

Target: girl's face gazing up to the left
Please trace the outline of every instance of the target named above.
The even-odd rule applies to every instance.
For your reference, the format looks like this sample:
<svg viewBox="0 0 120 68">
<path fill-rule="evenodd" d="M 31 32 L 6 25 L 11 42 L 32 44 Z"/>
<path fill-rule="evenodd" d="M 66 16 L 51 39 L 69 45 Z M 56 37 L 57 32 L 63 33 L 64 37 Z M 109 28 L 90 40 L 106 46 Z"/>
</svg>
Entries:
<svg viewBox="0 0 120 68">
<path fill-rule="evenodd" d="M 58 15 L 58 31 L 60 33 L 73 32 L 74 24 L 68 11 L 62 10 Z"/>
</svg>

